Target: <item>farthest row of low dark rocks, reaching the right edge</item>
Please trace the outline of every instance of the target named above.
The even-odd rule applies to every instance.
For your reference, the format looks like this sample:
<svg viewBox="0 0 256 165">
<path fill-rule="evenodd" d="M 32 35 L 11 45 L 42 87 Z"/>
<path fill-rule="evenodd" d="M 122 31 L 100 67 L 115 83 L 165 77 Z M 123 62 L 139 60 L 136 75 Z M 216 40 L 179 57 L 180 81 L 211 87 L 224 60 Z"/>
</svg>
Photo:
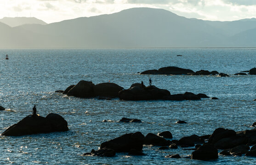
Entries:
<svg viewBox="0 0 256 165">
<path fill-rule="evenodd" d="M 256 74 L 256 68 L 250 69 L 250 71 L 241 71 L 240 73 L 236 73 L 234 75 L 247 75 L 243 72 L 249 72 L 250 75 Z M 190 69 L 183 69 L 176 66 L 167 66 L 159 68 L 158 70 L 147 70 L 142 71 L 140 74 L 153 74 L 153 75 L 218 75 L 219 77 L 229 77 L 228 74 L 219 73 L 218 71 L 207 71 L 207 70 L 200 70 L 200 71 L 192 71 Z"/>
</svg>

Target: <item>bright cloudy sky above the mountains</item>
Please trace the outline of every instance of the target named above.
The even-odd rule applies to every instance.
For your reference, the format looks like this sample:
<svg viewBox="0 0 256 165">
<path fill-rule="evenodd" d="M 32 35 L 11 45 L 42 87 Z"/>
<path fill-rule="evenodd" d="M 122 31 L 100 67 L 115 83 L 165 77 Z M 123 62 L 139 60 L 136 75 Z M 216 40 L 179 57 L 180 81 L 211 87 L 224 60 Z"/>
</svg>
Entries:
<svg viewBox="0 0 256 165">
<path fill-rule="evenodd" d="M 52 23 L 133 7 L 161 8 L 179 16 L 210 21 L 256 17 L 256 0 L 0 0 L 0 18 L 31 16 Z"/>
</svg>

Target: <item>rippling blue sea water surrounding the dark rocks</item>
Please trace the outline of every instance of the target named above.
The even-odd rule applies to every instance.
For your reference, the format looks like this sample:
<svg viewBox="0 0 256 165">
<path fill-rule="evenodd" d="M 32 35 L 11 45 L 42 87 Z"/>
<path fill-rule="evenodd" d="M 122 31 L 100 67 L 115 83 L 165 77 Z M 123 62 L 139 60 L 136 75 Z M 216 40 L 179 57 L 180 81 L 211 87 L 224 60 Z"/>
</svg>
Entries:
<svg viewBox="0 0 256 165">
<path fill-rule="evenodd" d="M 9 60 L 5 60 L 5 55 Z M 176 55 L 182 55 L 180 57 Z M 234 76 L 256 67 L 256 49 L 0 49 L 0 132 L 32 114 L 37 105 L 40 115 L 62 115 L 68 132 L 0 136 L 0 164 L 78 164 L 78 165 L 155 165 L 155 164 L 256 164 L 252 157 L 219 156 L 212 161 L 167 159 L 167 154 L 191 154 L 191 150 L 158 150 L 143 146 L 145 156 L 118 153 L 114 158 L 81 156 L 102 142 L 125 133 L 142 134 L 170 131 L 173 139 L 211 134 L 224 127 L 241 131 L 252 129 L 256 121 L 256 75 Z M 227 73 L 230 77 L 186 75 L 140 75 L 148 69 L 178 66 Z M 124 101 L 68 97 L 64 90 L 80 80 L 114 82 L 124 88 L 143 81 L 164 88 L 171 94 L 205 93 L 218 100 Z M 119 123 L 122 117 L 142 123 Z M 108 120 L 108 122 L 102 122 Z M 188 124 L 176 124 L 177 120 Z M 220 150 L 221 151 L 221 150 Z"/>
</svg>

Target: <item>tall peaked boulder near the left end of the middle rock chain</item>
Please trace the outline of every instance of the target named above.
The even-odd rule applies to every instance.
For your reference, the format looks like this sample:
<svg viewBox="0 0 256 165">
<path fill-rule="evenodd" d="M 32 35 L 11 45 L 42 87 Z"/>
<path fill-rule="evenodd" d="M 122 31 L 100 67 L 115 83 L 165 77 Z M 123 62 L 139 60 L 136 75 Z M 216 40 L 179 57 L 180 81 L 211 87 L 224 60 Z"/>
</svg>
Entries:
<svg viewBox="0 0 256 165">
<path fill-rule="evenodd" d="M 89 81 L 81 80 L 73 88 L 71 88 L 67 95 L 80 98 L 87 98 L 94 96 L 94 84 Z"/>
</svg>

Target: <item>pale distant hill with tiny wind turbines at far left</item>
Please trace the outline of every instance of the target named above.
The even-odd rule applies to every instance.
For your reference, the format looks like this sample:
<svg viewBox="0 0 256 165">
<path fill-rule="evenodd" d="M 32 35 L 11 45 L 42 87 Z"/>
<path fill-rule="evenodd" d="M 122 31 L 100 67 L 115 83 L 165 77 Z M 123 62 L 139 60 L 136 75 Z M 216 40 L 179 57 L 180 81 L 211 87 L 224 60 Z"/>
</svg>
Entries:
<svg viewBox="0 0 256 165">
<path fill-rule="evenodd" d="M 35 17 L 4 17 L 0 19 L 0 22 L 9 25 L 10 27 L 17 27 L 24 24 L 40 24 L 46 25 L 46 22 L 43 22 L 40 19 Z"/>
</svg>

